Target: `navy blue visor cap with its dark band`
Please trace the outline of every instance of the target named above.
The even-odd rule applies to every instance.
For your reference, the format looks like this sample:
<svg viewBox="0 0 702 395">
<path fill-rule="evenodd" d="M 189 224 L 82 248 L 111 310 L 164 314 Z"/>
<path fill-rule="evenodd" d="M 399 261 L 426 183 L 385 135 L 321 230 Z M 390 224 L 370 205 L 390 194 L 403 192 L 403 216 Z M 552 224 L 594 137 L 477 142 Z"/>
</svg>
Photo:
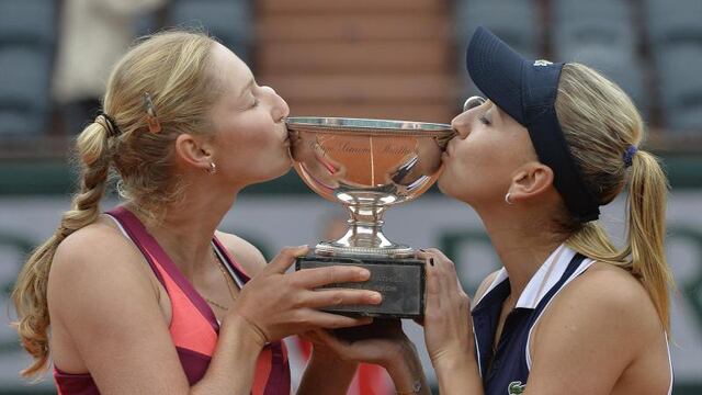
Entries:
<svg viewBox="0 0 702 395">
<path fill-rule="evenodd" d="M 600 204 L 582 180 L 554 106 L 564 64 L 528 60 L 479 26 L 468 44 L 466 65 L 478 89 L 526 127 L 539 160 L 553 170 L 554 185 L 570 214 L 581 223 L 597 219 Z"/>
</svg>

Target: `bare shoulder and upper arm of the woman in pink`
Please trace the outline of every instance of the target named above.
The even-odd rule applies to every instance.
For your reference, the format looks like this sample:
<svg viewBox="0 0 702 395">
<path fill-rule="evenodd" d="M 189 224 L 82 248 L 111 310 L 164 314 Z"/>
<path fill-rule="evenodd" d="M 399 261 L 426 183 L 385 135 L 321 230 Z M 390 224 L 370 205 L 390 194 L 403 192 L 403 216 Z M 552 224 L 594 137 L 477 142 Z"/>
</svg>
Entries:
<svg viewBox="0 0 702 395">
<path fill-rule="evenodd" d="M 55 335 L 70 339 L 61 363 L 72 356 L 73 370 L 89 371 L 101 390 L 112 392 L 186 387 L 155 282 L 139 250 L 111 223 L 99 221 L 67 237 L 48 284 Z"/>
</svg>

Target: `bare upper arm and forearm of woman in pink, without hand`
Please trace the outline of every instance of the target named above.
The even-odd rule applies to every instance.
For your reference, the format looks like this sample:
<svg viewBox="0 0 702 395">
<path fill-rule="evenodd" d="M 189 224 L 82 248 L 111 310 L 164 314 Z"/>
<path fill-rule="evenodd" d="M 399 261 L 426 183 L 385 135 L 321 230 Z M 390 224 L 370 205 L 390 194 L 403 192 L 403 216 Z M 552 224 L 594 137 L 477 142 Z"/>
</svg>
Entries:
<svg viewBox="0 0 702 395">
<path fill-rule="evenodd" d="M 59 246 L 49 312 L 77 350 L 72 365 L 82 368 L 72 372 L 90 372 L 109 394 L 248 393 L 261 347 L 256 334 L 225 323 L 207 375 L 190 388 L 148 274 L 139 252 L 113 232 L 82 229 Z"/>
</svg>

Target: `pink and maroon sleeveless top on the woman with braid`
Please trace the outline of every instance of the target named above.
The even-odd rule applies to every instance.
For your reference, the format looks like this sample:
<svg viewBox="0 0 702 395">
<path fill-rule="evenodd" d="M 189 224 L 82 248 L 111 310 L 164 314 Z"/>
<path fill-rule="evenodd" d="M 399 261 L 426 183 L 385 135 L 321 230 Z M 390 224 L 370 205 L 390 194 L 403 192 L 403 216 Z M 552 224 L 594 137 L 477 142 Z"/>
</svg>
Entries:
<svg viewBox="0 0 702 395">
<path fill-rule="evenodd" d="M 132 239 L 149 262 L 171 301 L 172 318 L 170 334 L 190 385 L 205 374 L 217 343 L 219 325 L 205 302 L 178 267 L 148 234 L 139 219 L 124 207 L 107 213 L 117 221 L 123 233 Z M 226 248 L 214 237 L 213 246 L 226 268 L 240 286 L 249 281 L 241 267 L 229 256 Z M 72 374 L 54 368 L 54 380 L 59 395 L 100 394 L 90 373 Z M 282 341 L 267 345 L 257 361 L 251 394 L 290 394 L 290 365 L 287 350 Z"/>
</svg>

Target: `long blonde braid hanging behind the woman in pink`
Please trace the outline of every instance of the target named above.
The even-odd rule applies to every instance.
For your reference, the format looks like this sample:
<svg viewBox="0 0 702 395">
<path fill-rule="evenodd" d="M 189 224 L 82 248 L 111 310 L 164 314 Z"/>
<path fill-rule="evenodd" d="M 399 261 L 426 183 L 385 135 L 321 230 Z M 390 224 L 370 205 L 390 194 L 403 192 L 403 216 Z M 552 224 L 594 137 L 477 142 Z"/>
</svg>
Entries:
<svg viewBox="0 0 702 395">
<path fill-rule="evenodd" d="M 34 358 L 33 363 L 21 372 L 25 377 L 37 375 L 47 368 L 49 315 L 46 285 L 56 249 L 66 237 L 93 223 L 100 214 L 100 200 L 110 170 L 110 154 L 105 121 L 102 117 L 99 120 L 78 136 L 82 177 L 80 192 L 73 196 L 71 210 L 64 213 L 54 235 L 31 255 L 12 292 L 19 318 L 14 325 L 22 346 Z"/>
</svg>

